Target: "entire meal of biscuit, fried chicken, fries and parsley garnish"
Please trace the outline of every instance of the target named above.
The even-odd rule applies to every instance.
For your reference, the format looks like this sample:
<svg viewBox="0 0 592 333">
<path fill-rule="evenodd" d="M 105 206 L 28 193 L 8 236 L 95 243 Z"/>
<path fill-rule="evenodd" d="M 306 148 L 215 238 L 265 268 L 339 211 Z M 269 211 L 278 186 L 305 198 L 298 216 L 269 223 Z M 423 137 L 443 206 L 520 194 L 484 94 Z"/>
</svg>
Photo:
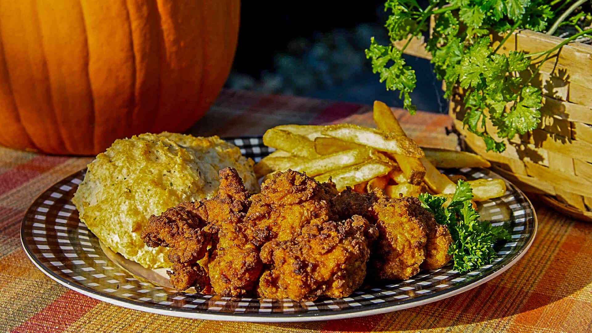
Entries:
<svg viewBox="0 0 592 333">
<path fill-rule="evenodd" d="M 340 298 L 366 277 L 406 280 L 451 260 L 464 271 L 493 260 L 504 232 L 478 221 L 473 200 L 503 195 L 505 182 L 441 174 L 432 161 L 485 162 L 437 149 L 424 156 L 384 103 L 374 119 L 378 129 L 274 127 L 263 142 L 276 151 L 255 166 L 218 137 L 117 140 L 89 164 L 75 204 L 124 257 L 170 267 L 179 291 Z"/>
</svg>

